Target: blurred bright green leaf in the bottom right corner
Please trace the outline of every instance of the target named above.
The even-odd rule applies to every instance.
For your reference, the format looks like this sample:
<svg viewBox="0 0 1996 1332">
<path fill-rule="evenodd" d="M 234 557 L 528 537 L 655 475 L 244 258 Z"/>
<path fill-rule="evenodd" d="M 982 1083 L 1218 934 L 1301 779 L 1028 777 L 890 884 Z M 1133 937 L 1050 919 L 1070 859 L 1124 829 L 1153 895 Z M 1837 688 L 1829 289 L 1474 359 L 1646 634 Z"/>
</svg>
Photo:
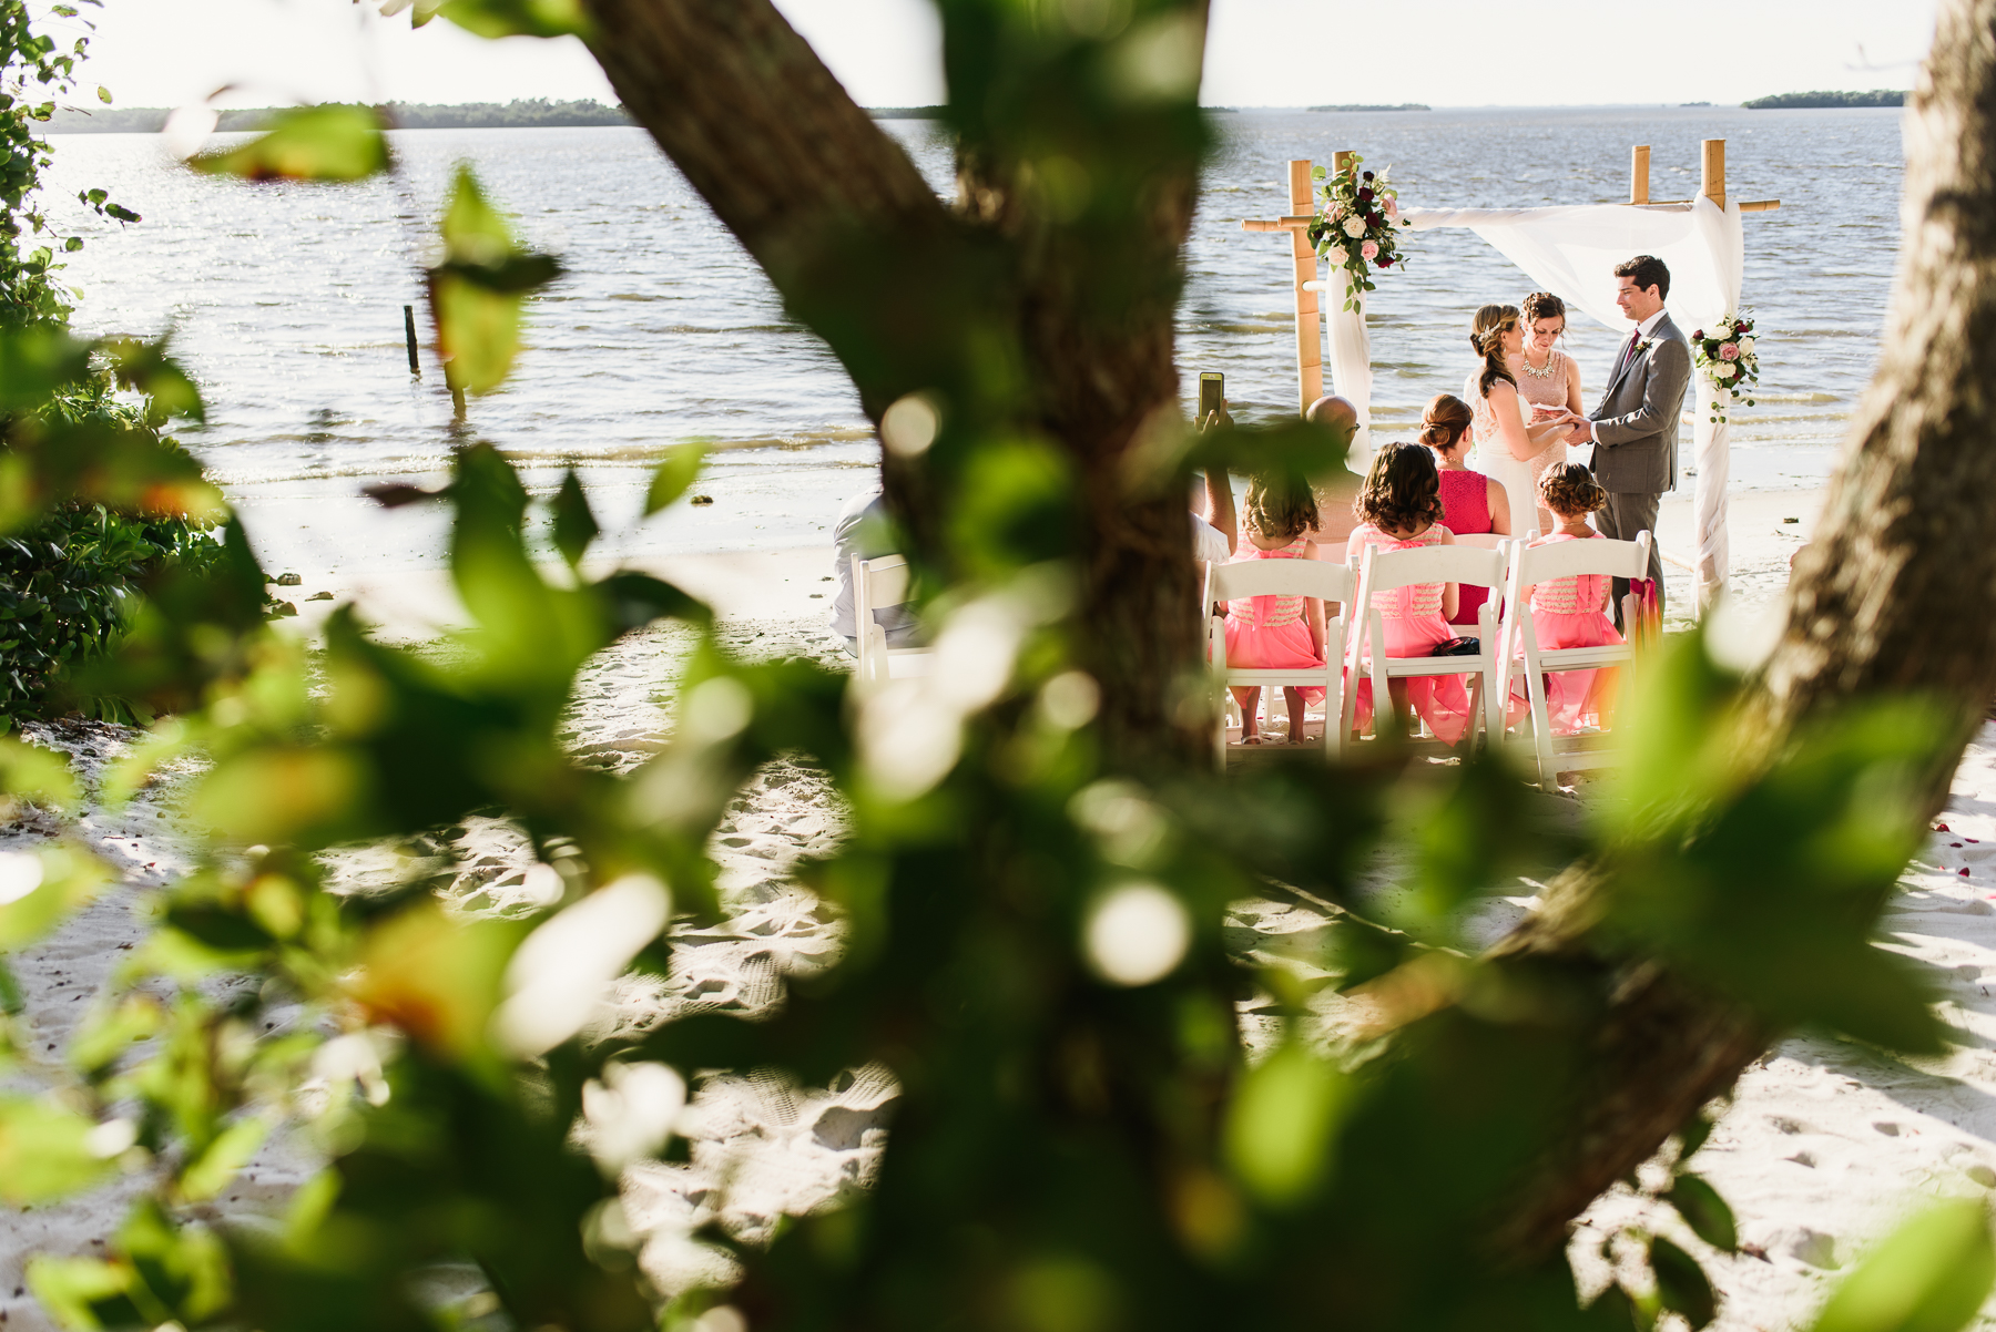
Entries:
<svg viewBox="0 0 1996 1332">
<path fill-rule="evenodd" d="M 1988 1212 L 1980 1200 L 1950 1198 L 1864 1258 L 1822 1306 L 1814 1332 L 1956 1332 L 1992 1284 Z"/>
</svg>

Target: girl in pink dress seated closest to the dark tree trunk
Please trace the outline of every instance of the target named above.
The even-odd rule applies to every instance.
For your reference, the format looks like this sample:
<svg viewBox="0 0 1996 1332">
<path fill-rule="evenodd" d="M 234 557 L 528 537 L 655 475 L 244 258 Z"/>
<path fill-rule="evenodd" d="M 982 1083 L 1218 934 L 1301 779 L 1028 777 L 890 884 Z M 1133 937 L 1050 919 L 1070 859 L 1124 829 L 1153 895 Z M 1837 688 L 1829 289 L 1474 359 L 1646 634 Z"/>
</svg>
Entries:
<svg viewBox="0 0 1996 1332">
<path fill-rule="evenodd" d="M 1234 560 L 1313 560 L 1317 499 L 1289 477 L 1248 481 L 1240 544 Z M 1248 670 L 1307 670 L 1323 666 L 1323 602 L 1315 596 L 1242 596 L 1228 602 L 1228 666 Z M 1303 708 L 1323 702 L 1323 690 L 1283 686 L 1289 704 L 1289 744 L 1303 744 Z M 1261 744 L 1261 686 L 1236 688 L 1242 744 Z M 1271 700 L 1273 702 L 1273 700 Z M 1325 724 L 1331 724 L 1325 720 Z"/>
</svg>

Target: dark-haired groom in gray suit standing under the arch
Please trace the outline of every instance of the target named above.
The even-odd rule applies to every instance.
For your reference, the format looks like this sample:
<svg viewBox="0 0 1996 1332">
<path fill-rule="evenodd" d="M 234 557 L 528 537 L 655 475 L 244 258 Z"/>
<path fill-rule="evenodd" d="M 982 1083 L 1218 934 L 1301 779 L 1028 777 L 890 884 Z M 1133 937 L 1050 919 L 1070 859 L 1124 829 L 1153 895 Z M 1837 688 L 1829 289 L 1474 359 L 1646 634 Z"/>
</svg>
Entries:
<svg viewBox="0 0 1996 1332">
<path fill-rule="evenodd" d="M 1657 612 L 1663 614 L 1663 552 L 1657 546 L 1657 506 L 1663 493 L 1677 489 L 1677 419 L 1685 411 L 1691 383 L 1691 343 L 1671 323 L 1663 299 L 1671 295 L 1671 269 L 1655 255 L 1637 255 L 1615 265 L 1615 303 L 1635 331 L 1623 343 L 1609 375 L 1601 405 L 1573 427 L 1569 445 L 1595 445 L 1595 481 L 1609 493 L 1609 506 L 1595 526 L 1613 540 L 1635 540 L 1649 532 L 1649 576 L 1657 584 Z M 1615 622 L 1629 580 L 1615 580 Z"/>
</svg>

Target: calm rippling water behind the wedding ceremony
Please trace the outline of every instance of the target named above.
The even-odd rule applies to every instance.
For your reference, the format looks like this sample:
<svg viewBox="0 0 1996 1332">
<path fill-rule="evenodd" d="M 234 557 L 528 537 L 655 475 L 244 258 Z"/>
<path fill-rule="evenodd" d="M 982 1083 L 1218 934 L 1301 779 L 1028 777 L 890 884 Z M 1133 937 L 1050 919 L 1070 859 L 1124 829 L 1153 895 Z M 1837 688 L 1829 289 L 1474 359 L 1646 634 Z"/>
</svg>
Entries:
<svg viewBox="0 0 1996 1332">
<path fill-rule="evenodd" d="M 1746 219 L 1746 303 L 1760 315 L 1762 393 L 1735 439 L 1741 485 L 1814 481 L 1862 391 L 1896 257 L 1898 112 L 1471 110 L 1238 114 L 1204 183 L 1182 307 L 1180 365 L 1228 375 L 1249 417 L 1293 411 L 1287 247 L 1242 217 L 1285 211 L 1289 158 L 1355 148 L 1393 166 L 1407 203 L 1531 205 L 1627 195 L 1629 146 L 1653 146 L 1653 197 L 1697 187 L 1699 140 L 1727 138 L 1731 189 L 1780 197 Z M 948 187 L 948 146 L 886 122 Z M 806 538 L 870 465 L 874 445 L 834 359 L 784 319 L 743 249 L 639 130 L 401 132 L 403 171 L 363 185 L 198 177 L 150 136 L 64 136 L 54 197 L 108 183 L 146 215 L 94 225 L 68 277 L 90 331 L 176 329 L 210 401 L 186 433 L 251 504 L 347 497 L 355 479 L 435 471 L 449 401 L 429 365 L 411 383 L 401 305 L 451 166 L 469 160 L 527 239 L 569 275 L 531 311 L 513 381 L 475 399 L 477 431 L 591 485 L 635 495 L 669 443 L 715 439 L 717 499 L 737 512 L 677 520 L 683 548 Z M 1413 237 L 1411 267 L 1371 299 L 1377 421 L 1391 435 L 1467 371 L 1469 313 L 1517 301 L 1523 273 L 1469 231 Z M 1601 383 L 1619 331 L 1575 319 L 1569 349 Z M 635 499 L 631 500 L 635 502 Z M 717 506 L 725 510 L 727 504 Z"/>
</svg>

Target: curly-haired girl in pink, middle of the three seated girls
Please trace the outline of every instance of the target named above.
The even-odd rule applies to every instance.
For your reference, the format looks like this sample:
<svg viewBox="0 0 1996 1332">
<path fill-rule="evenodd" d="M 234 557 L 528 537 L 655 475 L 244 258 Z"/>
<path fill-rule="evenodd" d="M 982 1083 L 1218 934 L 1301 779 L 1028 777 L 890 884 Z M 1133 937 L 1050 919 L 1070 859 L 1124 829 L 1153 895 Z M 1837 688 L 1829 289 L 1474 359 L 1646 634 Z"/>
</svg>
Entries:
<svg viewBox="0 0 1996 1332">
<path fill-rule="evenodd" d="M 1421 445 L 1393 443 L 1373 457 L 1365 485 L 1351 502 L 1359 528 L 1345 546 L 1345 564 L 1355 572 L 1365 566 L 1365 546 L 1381 550 L 1415 550 L 1419 546 L 1453 546 L 1455 534 L 1441 520 L 1441 483 L 1435 475 L 1435 455 Z M 1415 582 L 1391 592 L 1373 592 L 1371 608 L 1379 612 L 1387 656 L 1431 656 L 1437 644 L 1455 638 L 1449 614 L 1455 612 L 1453 582 Z M 1357 684 L 1353 686 L 1359 732 L 1371 726 L 1373 696 L 1365 662 L 1371 644 L 1359 636 Z M 1469 690 L 1463 676 L 1415 676 L 1387 684 L 1393 710 L 1405 718 L 1409 708 L 1445 744 L 1459 742 L 1469 732 Z"/>
</svg>

